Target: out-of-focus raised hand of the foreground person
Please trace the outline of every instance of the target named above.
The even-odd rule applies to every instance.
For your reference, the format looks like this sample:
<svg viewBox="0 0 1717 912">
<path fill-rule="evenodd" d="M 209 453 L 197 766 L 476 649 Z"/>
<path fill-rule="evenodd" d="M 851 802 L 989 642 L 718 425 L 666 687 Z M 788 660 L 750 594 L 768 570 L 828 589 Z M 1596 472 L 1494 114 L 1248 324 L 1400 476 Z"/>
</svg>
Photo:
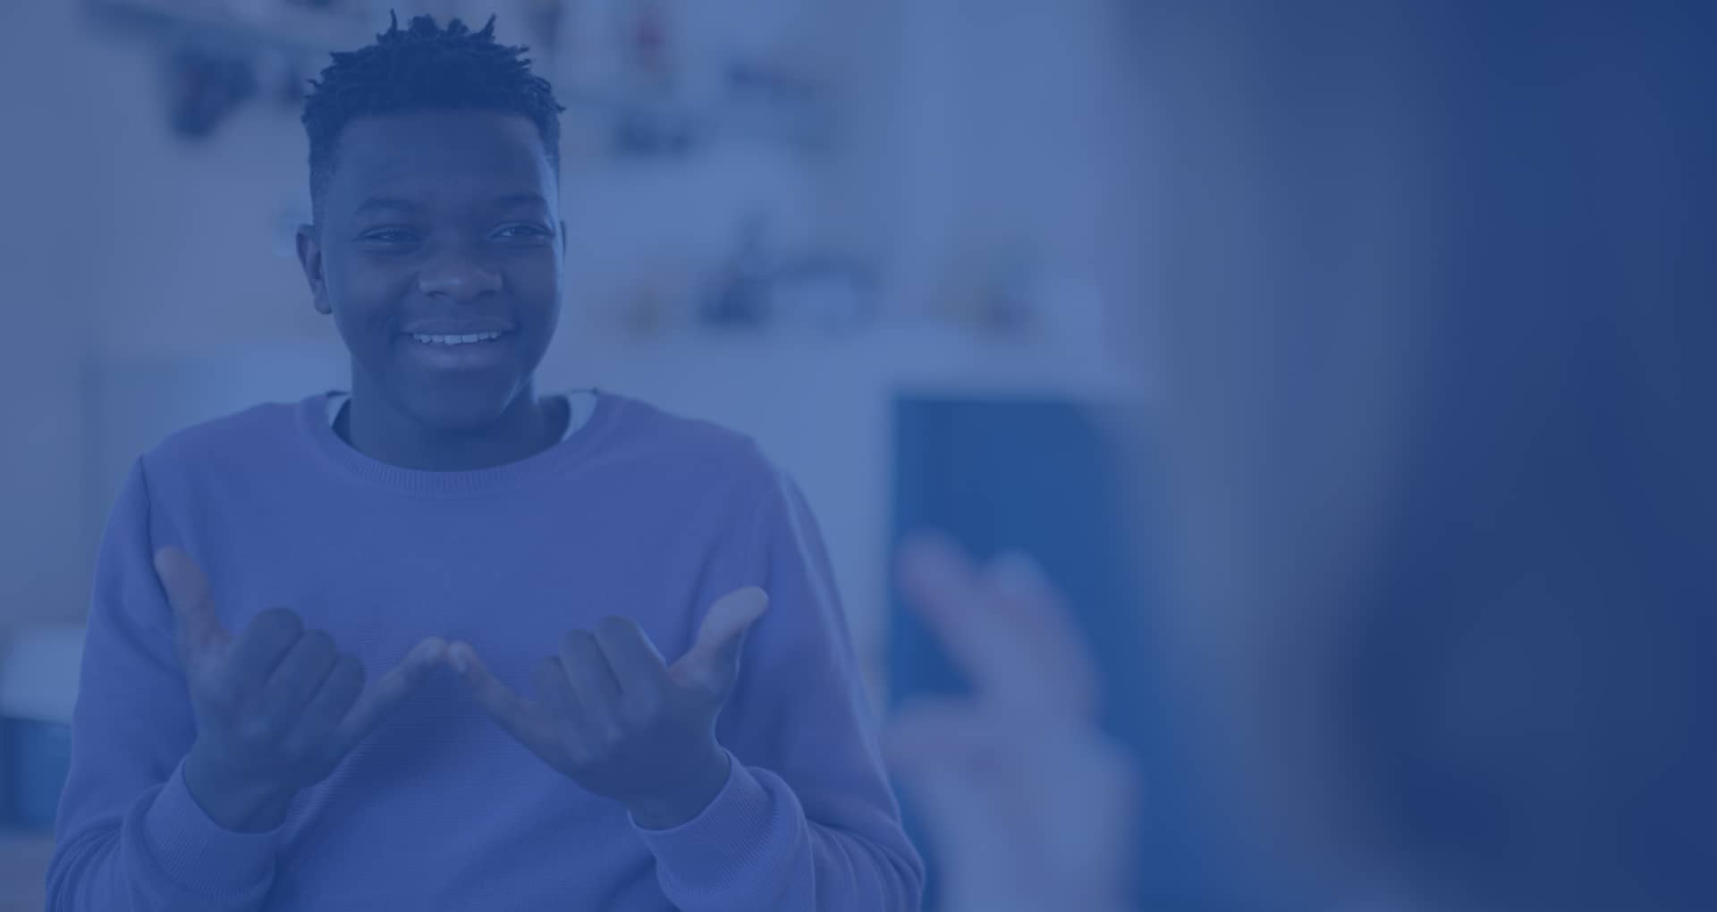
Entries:
<svg viewBox="0 0 1717 912">
<path fill-rule="evenodd" d="M 925 536 L 898 560 L 974 690 L 908 704 L 886 737 L 943 866 L 943 910 L 1123 909 L 1135 771 L 1097 728 L 1095 663 L 1061 598 L 1023 556 L 979 570 Z"/>
</svg>

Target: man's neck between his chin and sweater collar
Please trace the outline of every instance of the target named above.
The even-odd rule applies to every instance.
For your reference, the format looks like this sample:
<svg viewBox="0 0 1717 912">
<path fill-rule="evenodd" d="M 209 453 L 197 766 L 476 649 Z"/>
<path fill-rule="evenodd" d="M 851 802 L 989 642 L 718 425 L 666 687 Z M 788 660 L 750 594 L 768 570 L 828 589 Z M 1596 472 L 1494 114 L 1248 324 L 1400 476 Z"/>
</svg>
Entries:
<svg viewBox="0 0 1717 912">
<path fill-rule="evenodd" d="M 567 421 L 561 412 L 565 409 L 556 400 L 537 398 L 531 385 L 488 428 L 445 431 L 428 428 L 379 395 L 366 395 L 354 386 L 335 433 L 357 452 L 390 465 L 465 472 L 519 462 L 553 447 Z"/>
</svg>

